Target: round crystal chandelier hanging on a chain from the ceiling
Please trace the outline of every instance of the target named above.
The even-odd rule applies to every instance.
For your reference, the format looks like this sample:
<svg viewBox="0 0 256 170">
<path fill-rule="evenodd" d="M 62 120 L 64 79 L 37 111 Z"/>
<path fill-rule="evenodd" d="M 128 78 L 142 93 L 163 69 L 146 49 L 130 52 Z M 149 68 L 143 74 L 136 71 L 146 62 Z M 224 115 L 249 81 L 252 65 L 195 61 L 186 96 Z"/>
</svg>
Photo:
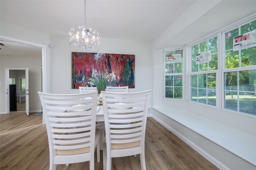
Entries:
<svg viewBox="0 0 256 170">
<path fill-rule="evenodd" d="M 70 28 L 70 47 L 83 51 L 95 52 L 99 50 L 100 34 L 91 27 L 86 27 L 86 0 L 84 0 L 84 26 L 77 25 Z"/>
</svg>

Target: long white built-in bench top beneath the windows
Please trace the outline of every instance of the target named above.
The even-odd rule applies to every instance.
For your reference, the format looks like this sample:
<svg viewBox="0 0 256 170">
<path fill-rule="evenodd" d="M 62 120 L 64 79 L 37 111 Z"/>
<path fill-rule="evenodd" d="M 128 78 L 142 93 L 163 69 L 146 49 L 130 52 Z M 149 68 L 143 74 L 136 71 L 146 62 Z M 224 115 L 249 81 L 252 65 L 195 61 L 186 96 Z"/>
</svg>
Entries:
<svg viewBox="0 0 256 170">
<path fill-rule="evenodd" d="M 153 108 L 256 166 L 256 137 L 186 111 Z"/>
</svg>

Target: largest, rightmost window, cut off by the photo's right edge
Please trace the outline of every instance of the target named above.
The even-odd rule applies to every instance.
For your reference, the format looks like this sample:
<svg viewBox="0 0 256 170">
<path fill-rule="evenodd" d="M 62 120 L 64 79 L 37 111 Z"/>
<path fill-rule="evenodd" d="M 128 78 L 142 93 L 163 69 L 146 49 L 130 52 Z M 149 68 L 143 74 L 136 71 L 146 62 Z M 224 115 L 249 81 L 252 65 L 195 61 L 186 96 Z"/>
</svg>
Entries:
<svg viewBox="0 0 256 170">
<path fill-rule="evenodd" d="M 223 33 L 224 108 L 256 115 L 256 20 Z"/>
</svg>

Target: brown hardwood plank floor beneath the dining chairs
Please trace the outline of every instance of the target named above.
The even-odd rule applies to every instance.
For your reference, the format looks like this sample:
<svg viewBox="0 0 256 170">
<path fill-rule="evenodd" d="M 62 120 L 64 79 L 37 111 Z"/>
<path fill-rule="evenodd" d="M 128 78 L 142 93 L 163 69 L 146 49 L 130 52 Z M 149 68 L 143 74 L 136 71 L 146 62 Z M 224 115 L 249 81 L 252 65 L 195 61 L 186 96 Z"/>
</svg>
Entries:
<svg viewBox="0 0 256 170">
<path fill-rule="evenodd" d="M 49 169 L 46 127 L 42 125 L 42 120 L 39 124 L 36 123 L 39 122 L 38 117 L 42 119 L 42 116 L 32 116 L 31 114 L 35 121 L 32 119 L 29 121 L 22 120 L 28 117 L 19 115 L 12 119 L 6 119 L 4 115 L 0 115 L 1 170 Z M 31 122 L 34 122 L 34 125 Z M 12 131 L 8 132 L 8 130 Z M 148 117 L 147 121 L 145 152 L 147 170 L 218 170 L 152 117 Z M 70 164 L 69 166 L 57 165 L 56 169 L 88 170 L 89 162 Z M 101 150 L 100 163 L 95 159 L 95 170 L 102 169 Z M 140 156 L 112 158 L 112 170 L 140 170 Z"/>
</svg>

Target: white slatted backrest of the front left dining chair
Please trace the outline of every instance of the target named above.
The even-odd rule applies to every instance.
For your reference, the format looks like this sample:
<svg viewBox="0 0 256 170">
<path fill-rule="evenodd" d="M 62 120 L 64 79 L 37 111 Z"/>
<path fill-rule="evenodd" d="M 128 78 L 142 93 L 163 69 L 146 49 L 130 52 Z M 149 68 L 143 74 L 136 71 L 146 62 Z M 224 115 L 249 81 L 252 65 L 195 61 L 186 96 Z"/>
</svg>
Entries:
<svg viewBox="0 0 256 170">
<path fill-rule="evenodd" d="M 54 150 L 52 156 L 58 154 L 56 150 L 80 150 L 86 147 L 88 154 L 94 152 L 97 92 L 38 94 L 46 122 L 49 148 Z"/>
</svg>

